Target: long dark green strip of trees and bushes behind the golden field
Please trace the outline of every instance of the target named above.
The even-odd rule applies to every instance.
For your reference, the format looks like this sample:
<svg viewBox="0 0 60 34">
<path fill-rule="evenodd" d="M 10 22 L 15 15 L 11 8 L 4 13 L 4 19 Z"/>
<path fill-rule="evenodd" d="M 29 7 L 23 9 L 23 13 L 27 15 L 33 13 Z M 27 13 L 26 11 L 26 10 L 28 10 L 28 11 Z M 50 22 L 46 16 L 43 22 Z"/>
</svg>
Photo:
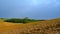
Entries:
<svg viewBox="0 0 60 34">
<path fill-rule="evenodd" d="M 13 22 L 13 23 L 29 23 L 29 22 L 43 21 L 43 20 L 35 20 L 35 19 L 29 19 L 28 17 L 25 17 L 24 19 L 18 19 L 18 18 L 5 19 L 4 21 Z"/>
</svg>

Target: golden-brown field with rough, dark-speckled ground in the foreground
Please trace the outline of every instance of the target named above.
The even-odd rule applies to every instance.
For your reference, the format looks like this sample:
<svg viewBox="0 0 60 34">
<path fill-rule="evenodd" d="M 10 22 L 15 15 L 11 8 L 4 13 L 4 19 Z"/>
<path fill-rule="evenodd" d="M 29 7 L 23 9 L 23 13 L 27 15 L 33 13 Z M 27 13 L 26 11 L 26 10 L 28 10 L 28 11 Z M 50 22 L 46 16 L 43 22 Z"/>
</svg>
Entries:
<svg viewBox="0 0 60 34">
<path fill-rule="evenodd" d="M 0 34 L 60 34 L 60 18 L 26 24 L 0 20 Z"/>
</svg>

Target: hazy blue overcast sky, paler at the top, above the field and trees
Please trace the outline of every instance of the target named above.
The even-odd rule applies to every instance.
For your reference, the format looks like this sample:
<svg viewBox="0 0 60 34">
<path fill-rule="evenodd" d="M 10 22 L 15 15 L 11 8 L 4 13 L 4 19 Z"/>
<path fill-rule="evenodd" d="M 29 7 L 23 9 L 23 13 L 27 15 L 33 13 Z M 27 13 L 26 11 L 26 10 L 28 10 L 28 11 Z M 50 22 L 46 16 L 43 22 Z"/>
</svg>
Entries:
<svg viewBox="0 0 60 34">
<path fill-rule="evenodd" d="M 0 0 L 0 17 L 60 18 L 60 0 Z"/>
</svg>

